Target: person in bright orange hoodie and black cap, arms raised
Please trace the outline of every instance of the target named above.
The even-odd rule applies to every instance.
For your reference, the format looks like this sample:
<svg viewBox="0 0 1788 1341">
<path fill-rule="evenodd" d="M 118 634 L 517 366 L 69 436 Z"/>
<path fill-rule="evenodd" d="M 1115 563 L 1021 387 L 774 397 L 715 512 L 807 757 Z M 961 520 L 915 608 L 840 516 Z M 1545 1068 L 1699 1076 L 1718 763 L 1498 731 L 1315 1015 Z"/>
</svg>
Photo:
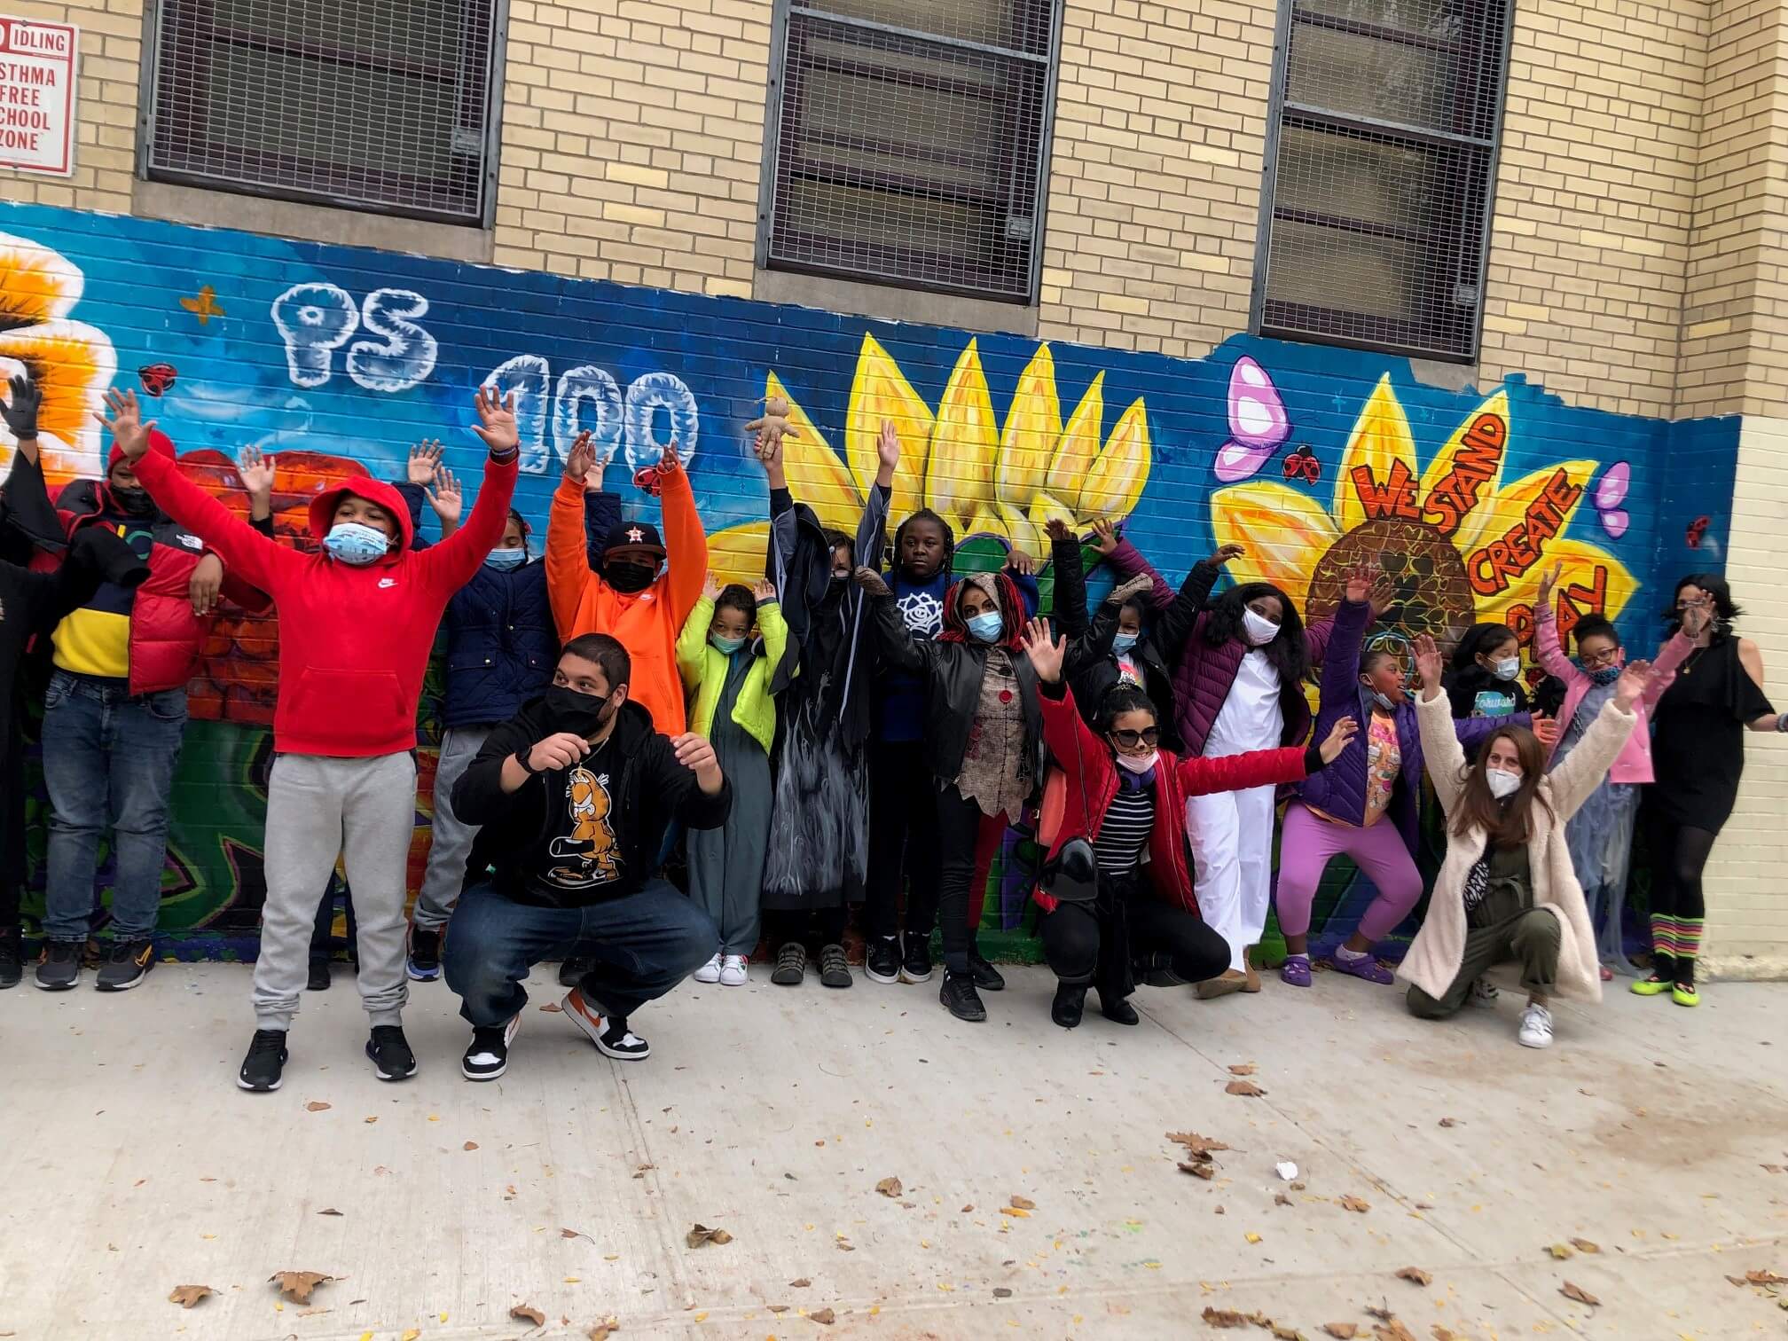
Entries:
<svg viewBox="0 0 1788 1341">
<path fill-rule="evenodd" d="M 560 640 L 606 633 L 633 658 L 628 697 L 665 735 L 687 730 L 676 640 L 708 581 L 708 536 L 696 490 L 678 461 L 676 442 L 658 461 L 665 542 L 647 522 L 620 522 L 603 547 L 601 574 L 590 570 L 583 533 L 585 476 L 601 472 L 595 447 L 579 442 L 565 458 L 565 477 L 547 519 L 547 597 Z"/>
</svg>

